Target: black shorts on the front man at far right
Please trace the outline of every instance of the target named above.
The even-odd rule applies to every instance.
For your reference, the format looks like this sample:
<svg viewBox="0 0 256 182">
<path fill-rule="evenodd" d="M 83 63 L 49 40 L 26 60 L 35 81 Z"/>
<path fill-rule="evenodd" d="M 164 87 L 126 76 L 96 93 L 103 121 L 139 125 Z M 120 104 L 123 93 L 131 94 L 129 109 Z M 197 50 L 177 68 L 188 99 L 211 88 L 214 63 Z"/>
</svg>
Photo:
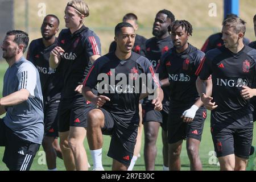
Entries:
<svg viewBox="0 0 256 182">
<path fill-rule="evenodd" d="M 210 131 L 217 158 L 230 154 L 243 159 L 249 158 L 251 142 L 253 141 L 253 128 L 227 129 L 212 127 Z"/>
</svg>

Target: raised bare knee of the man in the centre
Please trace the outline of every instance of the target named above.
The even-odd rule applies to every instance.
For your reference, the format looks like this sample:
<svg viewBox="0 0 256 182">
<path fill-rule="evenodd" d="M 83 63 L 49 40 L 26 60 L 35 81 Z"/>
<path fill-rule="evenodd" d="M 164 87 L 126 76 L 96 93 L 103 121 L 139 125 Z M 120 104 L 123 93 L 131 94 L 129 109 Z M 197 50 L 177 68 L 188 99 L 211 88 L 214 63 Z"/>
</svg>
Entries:
<svg viewBox="0 0 256 182">
<path fill-rule="evenodd" d="M 101 122 L 104 120 L 102 111 L 98 109 L 90 110 L 87 114 L 87 127 L 100 127 Z"/>
</svg>

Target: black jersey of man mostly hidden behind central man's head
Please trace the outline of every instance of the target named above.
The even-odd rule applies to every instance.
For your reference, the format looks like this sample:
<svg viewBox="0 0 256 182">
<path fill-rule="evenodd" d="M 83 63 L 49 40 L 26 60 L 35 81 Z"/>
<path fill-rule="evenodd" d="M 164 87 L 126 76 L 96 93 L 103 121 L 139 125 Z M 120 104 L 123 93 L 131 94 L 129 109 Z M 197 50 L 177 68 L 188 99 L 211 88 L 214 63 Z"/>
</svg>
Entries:
<svg viewBox="0 0 256 182">
<path fill-rule="evenodd" d="M 147 39 L 144 38 L 143 36 L 136 34 L 133 51 L 138 53 L 139 55 L 145 56 L 146 40 Z M 117 43 L 113 41 L 109 46 L 109 52 L 115 51 L 115 49 L 117 49 Z"/>
</svg>

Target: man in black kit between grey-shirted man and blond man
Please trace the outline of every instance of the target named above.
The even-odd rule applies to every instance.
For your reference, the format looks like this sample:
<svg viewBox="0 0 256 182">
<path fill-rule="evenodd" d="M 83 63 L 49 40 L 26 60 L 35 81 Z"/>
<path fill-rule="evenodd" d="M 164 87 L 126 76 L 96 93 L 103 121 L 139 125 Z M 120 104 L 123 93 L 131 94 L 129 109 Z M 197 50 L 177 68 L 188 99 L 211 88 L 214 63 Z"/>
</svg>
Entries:
<svg viewBox="0 0 256 182">
<path fill-rule="evenodd" d="M 31 61 L 40 75 L 44 98 L 44 139 L 42 146 L 46 152 L 48 170 L 55 171 L 56 157 L 62 158 L 57 137 L 58 134 L 58 109 L 60 92 L 63 88 L 63 77 L 59 69 L 49 67 L 49 55 L 57 46 L 55 34 L 59 31 L 59 18 L 47 15 L 41 26 L 42 38 L 32 40 L 28 47 L 27 60 Z"/>
</svg>

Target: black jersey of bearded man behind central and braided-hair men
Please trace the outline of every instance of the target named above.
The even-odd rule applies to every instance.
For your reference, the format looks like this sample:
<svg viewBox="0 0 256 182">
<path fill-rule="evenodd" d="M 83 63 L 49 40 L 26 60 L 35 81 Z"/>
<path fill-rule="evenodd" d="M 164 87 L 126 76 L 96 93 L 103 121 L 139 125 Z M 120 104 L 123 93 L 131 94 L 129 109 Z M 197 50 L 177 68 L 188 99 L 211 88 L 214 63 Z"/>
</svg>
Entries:
<svg viewBox="0 0 256 182">
<path fill-rule="evenodd" d="M 146 57 L 148 60 L 150 60 L 154 69 L 156 69 L 158 65 L 158 61 L 160 60 L 160 57 L 172 47 L 174 47 L 174 44 L 172 43 L 171 36 L 167 36 L 162 40 L 156 37 L 153 37 L 146 41 Z M 163 87 L 162 89 L 164 92 L 164 99 L 162 102 L 163 110 L 166 113 L 168 113 L 169 92 L 168 92 L 168 89 L 165 87 Z M 151 104 L 151 101 L 145 98 L 143 101 L 143 104 Z"/>
</svg>

